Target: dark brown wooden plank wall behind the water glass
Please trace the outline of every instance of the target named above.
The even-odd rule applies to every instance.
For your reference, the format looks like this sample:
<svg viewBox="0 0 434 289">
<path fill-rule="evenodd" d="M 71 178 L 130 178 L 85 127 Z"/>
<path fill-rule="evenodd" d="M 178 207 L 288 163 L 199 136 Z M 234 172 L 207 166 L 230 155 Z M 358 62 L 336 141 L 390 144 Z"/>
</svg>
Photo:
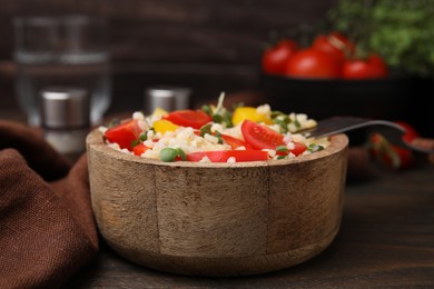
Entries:
<svg viewBox="0 0 434 289">
<path fill-rule="evenodd" d="M 316 24 L 336 0 L 0 0 L 0 113 L 17 108 L 13 29 L 21 14 L 87 13 L 110 24 L 114 101 L 138 109 L 155 84 L 185 86 L 216 100 L 258 86 L 259 58 L 272 30 Z M 1 116 L 1 114 L 0 114 Z"/>
</svg>

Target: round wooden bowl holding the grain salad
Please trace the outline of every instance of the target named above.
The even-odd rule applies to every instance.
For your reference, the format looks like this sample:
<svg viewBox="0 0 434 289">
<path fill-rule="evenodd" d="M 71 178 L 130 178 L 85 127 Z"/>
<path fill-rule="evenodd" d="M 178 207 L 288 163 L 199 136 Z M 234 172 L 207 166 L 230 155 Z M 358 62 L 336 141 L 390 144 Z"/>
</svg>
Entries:
<svg viewBox="0 0 434 289">
<path fill-rule="evenodd" d="M 228 277 L 306 261 L 335 238 L 348 139 L 290 160 L 161 162 L 87 138 L 91 202 L 116 252 L 164 271 Z"/>
</svg>

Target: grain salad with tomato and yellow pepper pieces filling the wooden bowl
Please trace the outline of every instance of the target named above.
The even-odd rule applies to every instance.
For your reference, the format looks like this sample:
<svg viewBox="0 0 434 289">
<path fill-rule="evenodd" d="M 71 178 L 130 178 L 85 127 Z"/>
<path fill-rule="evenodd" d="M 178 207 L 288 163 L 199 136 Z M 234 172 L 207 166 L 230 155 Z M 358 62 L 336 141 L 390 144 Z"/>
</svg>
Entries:
<svg viewBox="0 0 434 289">
<path fill-rule="evenodd" d="M 302 130 L 316 127 L 304 113 L 283 113 L 269 104 L 223 106 L 198 110 L 141 111 L 99 130 L 112 149 L 161 161 L 241 162 L 296 158 L 329 146 L 328 139 L 307 139 Z"/>
</svg>

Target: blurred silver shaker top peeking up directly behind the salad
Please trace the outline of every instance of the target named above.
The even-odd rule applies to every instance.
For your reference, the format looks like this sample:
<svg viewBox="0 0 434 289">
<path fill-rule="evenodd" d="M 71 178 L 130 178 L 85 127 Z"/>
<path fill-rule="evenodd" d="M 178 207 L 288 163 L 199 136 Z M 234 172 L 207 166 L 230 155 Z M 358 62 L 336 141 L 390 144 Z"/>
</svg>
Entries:
<svg viewBox="0 0 434 289">
<path fill-rule="evenodd" d="M 181 110 L 190 107 L 191 90 L 181 87 L 160 86 L 145 91 L 145 112 L 151 113 L 157 107 L 167 110 Z"/>
</svg>

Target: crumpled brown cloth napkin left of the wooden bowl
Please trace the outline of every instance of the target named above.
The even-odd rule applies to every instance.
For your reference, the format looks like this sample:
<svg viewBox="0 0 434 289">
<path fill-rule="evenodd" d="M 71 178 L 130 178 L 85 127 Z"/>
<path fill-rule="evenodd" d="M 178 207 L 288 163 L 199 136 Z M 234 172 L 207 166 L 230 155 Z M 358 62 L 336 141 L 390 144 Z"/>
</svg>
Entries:
<svg viewBox="0 0 434 289">
<path fill-rule="evenodd" d="M 98 251 L 86 155 L 0 120 L 0 288 L 56 288 Z"/>
</svg>

